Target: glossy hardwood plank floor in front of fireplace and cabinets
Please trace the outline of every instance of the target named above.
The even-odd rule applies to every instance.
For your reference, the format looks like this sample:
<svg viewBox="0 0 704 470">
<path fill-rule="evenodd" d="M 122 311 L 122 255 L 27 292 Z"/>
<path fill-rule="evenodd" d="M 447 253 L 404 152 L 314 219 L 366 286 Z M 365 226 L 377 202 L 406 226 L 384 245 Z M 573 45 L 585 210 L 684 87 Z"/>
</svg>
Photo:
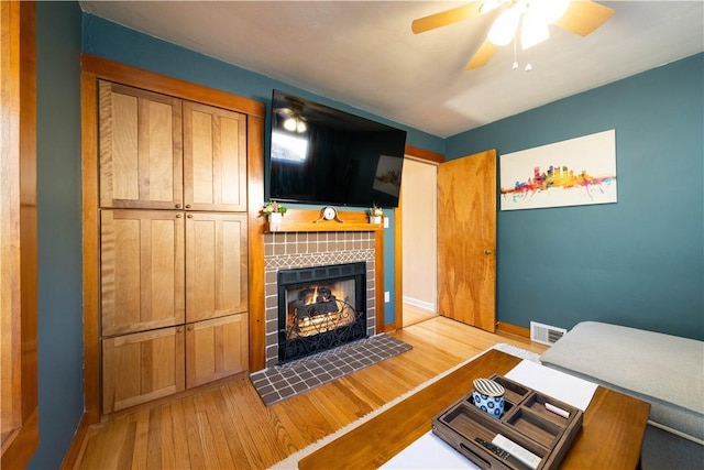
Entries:
<svg viewBox="0 0 704 470">
<path fill-rule="evenodd" d="M 268 468 L 495 343 L 547 349 L 444 317 L 389 335 L 414 349 L 271 407 L 239 375 L 117 416 L 87 433 L 76 468 Z"/>
</svg>

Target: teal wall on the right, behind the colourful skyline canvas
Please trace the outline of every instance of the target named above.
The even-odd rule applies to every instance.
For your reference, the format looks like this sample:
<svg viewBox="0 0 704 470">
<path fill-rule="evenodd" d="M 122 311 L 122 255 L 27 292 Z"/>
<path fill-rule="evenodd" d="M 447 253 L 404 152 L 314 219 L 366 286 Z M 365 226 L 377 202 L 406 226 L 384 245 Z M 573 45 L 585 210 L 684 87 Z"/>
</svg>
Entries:
<svg viewBox="0 0 704 470">
<path fill-rule="evenodd" d="M 698 54 L 447 140 L 501 160 L 616 130 L 617 204 L 498 212 L 499 321 L 704 339 L 703 88 Z"/>
</svg>

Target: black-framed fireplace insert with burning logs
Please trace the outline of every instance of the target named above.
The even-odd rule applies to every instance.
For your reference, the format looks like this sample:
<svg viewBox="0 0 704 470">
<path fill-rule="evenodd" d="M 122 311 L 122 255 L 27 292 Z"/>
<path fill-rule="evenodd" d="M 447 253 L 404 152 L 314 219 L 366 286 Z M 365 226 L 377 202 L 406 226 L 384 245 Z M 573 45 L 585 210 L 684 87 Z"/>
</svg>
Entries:
<svg viewBox="0 0 704 470">
<path fill-rule="evenodd" d="M 366 338 L 366 263 L 278 272 L 278 363 Z"/>
</svg>

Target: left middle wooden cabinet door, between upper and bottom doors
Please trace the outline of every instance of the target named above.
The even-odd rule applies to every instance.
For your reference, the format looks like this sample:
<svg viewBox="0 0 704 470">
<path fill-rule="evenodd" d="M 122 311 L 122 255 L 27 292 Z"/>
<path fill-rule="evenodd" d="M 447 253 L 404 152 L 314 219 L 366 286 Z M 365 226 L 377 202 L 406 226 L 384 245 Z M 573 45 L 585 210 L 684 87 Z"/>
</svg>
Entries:
<svg viewBox="0 0 704 470">
<path fill-rule="evenodd" d="M 184 323 L 184 214 L 102 210 L 102 336 Z"/>
</svg>

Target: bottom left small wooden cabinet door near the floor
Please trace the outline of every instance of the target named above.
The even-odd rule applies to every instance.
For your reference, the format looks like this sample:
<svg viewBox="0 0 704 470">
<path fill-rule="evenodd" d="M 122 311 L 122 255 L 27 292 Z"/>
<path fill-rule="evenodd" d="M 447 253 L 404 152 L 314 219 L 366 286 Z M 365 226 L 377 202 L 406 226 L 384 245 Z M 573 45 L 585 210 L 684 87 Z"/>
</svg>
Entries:
<svg viewBox="0 0 704 470">
<path fill-rule="evenodd" d="M 184 390 L 184 350 L 183 327 L 103 339 L 103 413 Z"/>
</svg>

